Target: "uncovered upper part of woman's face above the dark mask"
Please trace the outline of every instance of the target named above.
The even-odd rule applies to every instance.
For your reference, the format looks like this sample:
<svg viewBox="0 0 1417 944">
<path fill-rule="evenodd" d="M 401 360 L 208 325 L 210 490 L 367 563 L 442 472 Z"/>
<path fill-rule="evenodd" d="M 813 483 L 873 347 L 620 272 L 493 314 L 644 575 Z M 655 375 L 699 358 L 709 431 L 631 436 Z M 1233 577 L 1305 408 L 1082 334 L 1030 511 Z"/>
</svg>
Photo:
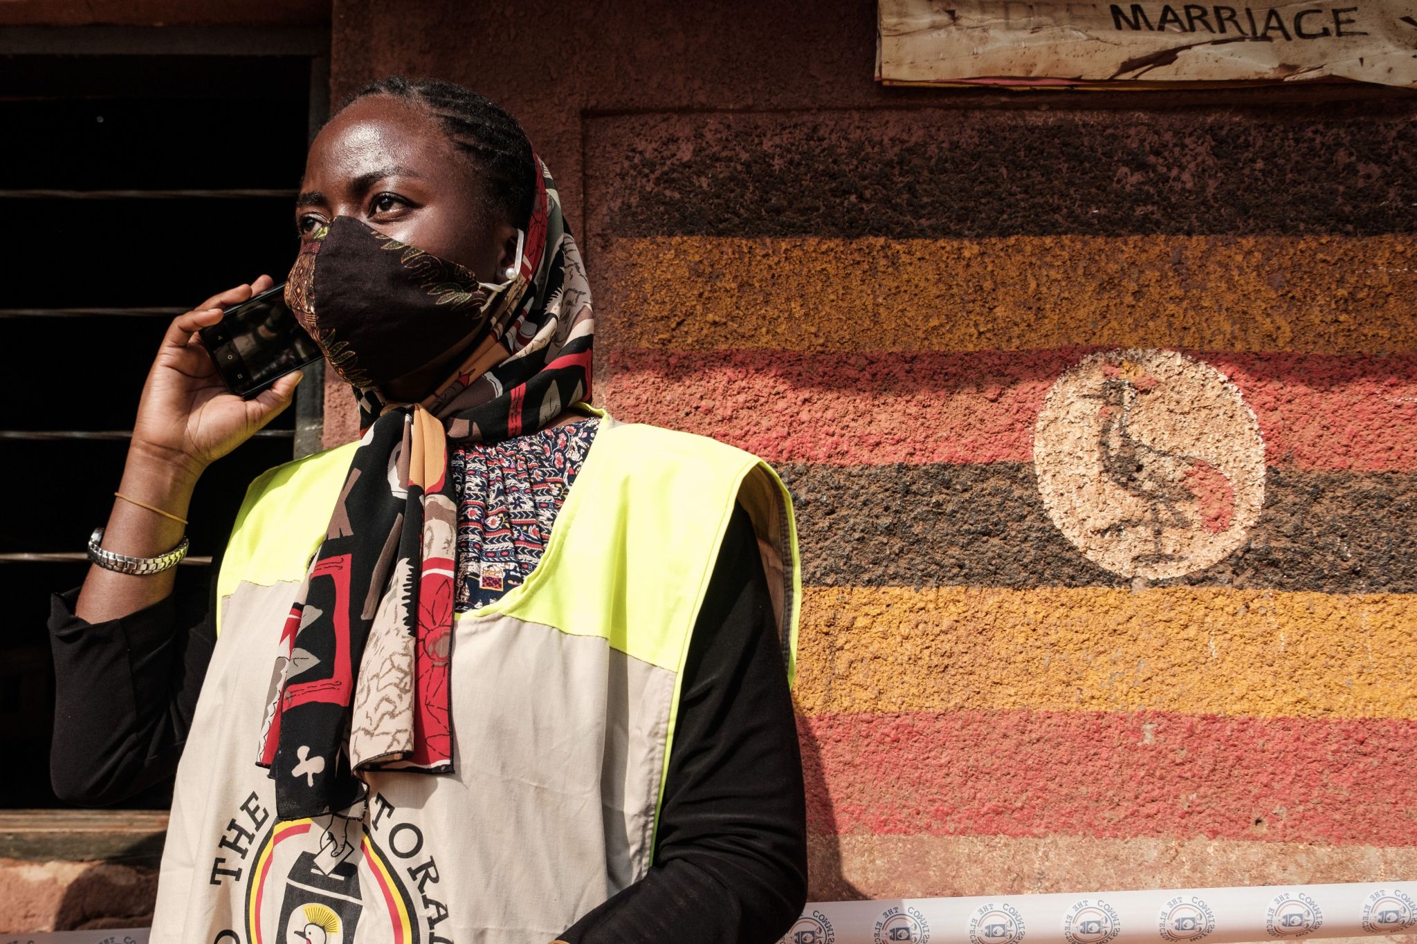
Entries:
<svg viewBox="0 0 1417 944">
<path fill-rule="evenodd" d="M 295 228 L 356 217 L 374 229 L 502 282 L 516 229 L 492 219 L 485 181 L 436 119 L 391 95 L 353 102 L 320 129 L 305 159 Z"/>
</svg>

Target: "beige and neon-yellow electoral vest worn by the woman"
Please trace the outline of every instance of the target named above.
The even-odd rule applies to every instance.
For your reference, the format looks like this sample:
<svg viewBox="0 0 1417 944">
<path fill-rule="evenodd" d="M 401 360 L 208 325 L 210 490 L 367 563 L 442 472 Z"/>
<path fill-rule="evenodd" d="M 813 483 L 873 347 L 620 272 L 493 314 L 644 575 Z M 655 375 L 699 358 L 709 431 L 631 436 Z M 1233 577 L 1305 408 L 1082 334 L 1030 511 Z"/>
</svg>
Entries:
<svg viewBox="0 0 1417 944">
<path fill-rule="evenodd" d="M 551 941 L 643 877 L 734 504 L 757 532 L 789 681 L 801 568 L 791 497 L 765 463 L 601 416 L 540 563 L 455 620 L 455 771 L 366 773 L 361 821 L 278 821 L 255 764 L 281 630 L 357 444 L 252 483 L 218 576 L 153 944 Z"/>
</svg>

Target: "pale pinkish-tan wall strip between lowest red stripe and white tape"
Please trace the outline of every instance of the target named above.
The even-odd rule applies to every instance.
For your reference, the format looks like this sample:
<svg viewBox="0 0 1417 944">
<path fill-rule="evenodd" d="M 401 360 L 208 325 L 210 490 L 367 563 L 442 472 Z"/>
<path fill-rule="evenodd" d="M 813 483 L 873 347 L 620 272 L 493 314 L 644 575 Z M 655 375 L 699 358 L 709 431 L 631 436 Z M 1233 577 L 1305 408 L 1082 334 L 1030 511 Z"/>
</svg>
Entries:
<svg viewBox="0 0 1417 944">
<path fill-rule="evenodd" d="M 1326 882 L 1410 882 L 1417 846 L 1247 839 L 812 835 L 812 902 Z M 1372 941 L 1373 938 L 1362 938 Z"/>
</svg>

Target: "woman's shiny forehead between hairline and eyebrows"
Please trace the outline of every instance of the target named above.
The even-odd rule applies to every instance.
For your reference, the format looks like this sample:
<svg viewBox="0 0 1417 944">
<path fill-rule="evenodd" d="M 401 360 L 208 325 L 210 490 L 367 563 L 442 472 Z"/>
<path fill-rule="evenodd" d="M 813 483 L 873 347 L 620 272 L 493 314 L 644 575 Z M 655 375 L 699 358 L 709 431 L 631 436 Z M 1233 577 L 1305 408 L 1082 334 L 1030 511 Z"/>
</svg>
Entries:
<svg viewBox="0 0 1417 944">
<path fill-rule="evenodd" d="M 377 167 L 408 167 L 429 181 L 470 184 L 473 168 L 436 119 L 411 102 L 370 95 L 329 120 L 310 143 L 305 177 L 323 187 Z"/>
</svg>

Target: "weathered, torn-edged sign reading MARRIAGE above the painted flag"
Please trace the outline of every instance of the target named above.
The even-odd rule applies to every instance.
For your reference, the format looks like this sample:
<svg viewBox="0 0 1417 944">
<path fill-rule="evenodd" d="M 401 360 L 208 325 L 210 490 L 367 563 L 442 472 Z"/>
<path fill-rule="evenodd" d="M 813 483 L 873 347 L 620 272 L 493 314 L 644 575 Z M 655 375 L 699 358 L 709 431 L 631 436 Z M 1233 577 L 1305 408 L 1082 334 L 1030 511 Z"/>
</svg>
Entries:
<svg viewBox="0 0 1417 944">
<path fill-rule="evenodd" d="M 887 85 L 1417 88 L 1417 0 L 879 0 Z"/>
</svg>

